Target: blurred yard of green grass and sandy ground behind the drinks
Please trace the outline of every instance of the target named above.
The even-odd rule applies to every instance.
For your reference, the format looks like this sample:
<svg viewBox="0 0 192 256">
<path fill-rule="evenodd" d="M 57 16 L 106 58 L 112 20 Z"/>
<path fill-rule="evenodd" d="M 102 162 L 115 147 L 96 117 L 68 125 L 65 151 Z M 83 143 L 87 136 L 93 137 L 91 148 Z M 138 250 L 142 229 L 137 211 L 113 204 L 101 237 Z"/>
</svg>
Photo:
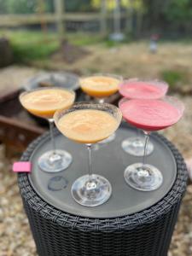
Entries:
<svg viewBox="0 0 192 256">
<path fill-rule="evenodd" d="M 84 74 L 119 73 L 125 78 L 163 79 L 175 88 L 192 86 L 191 40 L 160 40 L 155 55 L 148 51 L 148 40 L 125 38 L 114 43 L 100 34 L 67 33 L 70 44 L 88 49 L 78 61 L 67 63 L 52 54 L 60 48 L 57 34 L 25 30 L 0 30 L 0 37 L 9 38 L 15 61 L 45 69 L 63 69 Z M 190 43 L 190 44 L 189 44 Z M 87 47 L 90 46 L 91 47 Z M 60 56 L 61 52 L 58 52 Z M 55 61 L 56 60 L 56 61 Z"/>
</svg>

